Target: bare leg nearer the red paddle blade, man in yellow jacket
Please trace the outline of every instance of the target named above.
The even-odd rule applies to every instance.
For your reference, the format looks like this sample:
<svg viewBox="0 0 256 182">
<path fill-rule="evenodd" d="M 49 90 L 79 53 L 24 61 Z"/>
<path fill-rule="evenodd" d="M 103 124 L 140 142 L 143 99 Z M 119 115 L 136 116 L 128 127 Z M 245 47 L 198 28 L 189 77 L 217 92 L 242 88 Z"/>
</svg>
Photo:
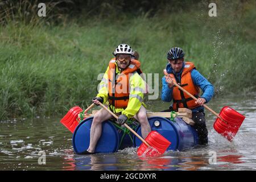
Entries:
<svg viewBox="0 0 256 182">
<path fill-rule="evenodd" d="M 141 124 L 142 138 L 145 139 L 150 133 L 151 127 L 147 120 L 147 111 L 143 105 L 139 109 L 138 113 L 134 115 L 134 118 Z"/>
</svg>

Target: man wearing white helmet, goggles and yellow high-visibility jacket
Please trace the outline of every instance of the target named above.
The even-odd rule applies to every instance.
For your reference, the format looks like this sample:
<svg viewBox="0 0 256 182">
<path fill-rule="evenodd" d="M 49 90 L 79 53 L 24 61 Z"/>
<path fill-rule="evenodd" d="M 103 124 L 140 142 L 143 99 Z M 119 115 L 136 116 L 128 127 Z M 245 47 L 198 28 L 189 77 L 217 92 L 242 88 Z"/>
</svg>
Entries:
<svg viewBox="0 0 256 182">
<path fill-rule="evenodd" d="M 141 63 L 133 59 L 133 49 L 127 44 L 120 44 L 113 52 L 115 56 L 100 82 L 98 94 L 92 102 L 108 105 L 118 116 L 117 122 L 123 125 L 129 118 L 135 118 L 141 124 L 142 137 L 151 131 L 147 120 L 145 105 L 142 102 L 146 93 L 146 82 L 139 75 Z M 135 56 L 134 56 L 135 57 Z M 113 118 L 105 109 L 98 111 L 90 129 L 89 148 L 80 154 L 94 154 L 98 139 L 101 137 L 102 122 Z"/>
</svg>

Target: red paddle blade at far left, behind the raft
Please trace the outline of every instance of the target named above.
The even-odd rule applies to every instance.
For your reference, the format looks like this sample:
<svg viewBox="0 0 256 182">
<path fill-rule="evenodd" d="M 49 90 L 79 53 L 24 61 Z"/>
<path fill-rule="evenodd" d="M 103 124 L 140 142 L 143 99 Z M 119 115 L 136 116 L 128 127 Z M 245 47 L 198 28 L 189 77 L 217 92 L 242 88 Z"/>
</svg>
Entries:
<svg viewBox="0 0 256 182">
<path fill-rule="evenodd" d="M 74 133 L 77 125 L 79 125 L 79 122 L 77 122 L 77 114 L 81 113 L 82 109 L 79 106 L 72 107 L 68 113 L 60 120 L 60 122 L 67 127 L 69 131 Z"/>
</svg>

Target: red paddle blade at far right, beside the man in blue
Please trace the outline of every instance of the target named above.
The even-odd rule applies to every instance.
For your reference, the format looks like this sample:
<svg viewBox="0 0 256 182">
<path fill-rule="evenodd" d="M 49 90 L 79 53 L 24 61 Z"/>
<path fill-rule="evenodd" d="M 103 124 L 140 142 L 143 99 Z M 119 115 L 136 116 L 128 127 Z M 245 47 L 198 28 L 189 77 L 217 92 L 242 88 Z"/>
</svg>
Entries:
<svg viewBox="0 0 256 182">
<path fill-rule="evenodd" d="M 217 118 L 213 128 L 231 142 L 245 120 L 245 116 L 229 106 L 223 107 L 219 115 L 226 123 Z"/>
</svg>

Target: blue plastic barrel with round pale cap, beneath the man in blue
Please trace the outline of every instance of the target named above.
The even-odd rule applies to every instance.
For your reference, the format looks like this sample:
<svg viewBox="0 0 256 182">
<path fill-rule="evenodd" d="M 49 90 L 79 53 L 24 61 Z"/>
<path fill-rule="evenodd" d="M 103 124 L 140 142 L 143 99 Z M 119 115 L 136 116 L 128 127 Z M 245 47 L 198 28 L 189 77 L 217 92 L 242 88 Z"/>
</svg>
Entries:
<svg viewBox="0 0 256 182">
<path fill-rule="evenodd" d="M 150 117 L 148 122 L 150 123 L 151 130 L 158 131 L 158 133 L 171 142 L 167 150 L 183 151 L 198 144 L 197 131 L 181 118 L 175 118 L 175 121 L 172 122 L 167 118 Z M 137 128 L 136 132 L 141 135 L 141 126 Z M 141 140 L 134 136 L 134 146 L 138 147 L 141 143 Z"/>
</svg>

